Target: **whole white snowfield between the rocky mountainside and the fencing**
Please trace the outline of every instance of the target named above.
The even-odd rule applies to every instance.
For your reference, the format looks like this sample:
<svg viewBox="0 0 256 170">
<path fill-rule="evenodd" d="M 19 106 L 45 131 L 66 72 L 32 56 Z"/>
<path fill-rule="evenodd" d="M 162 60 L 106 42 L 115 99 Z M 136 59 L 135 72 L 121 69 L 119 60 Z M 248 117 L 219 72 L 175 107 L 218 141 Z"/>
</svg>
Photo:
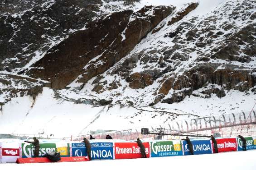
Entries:
<svg viewBox="0 0 256 170">
<path fill-rule="evenodd" d="M 45 133 L 54 134 L 56 138 L 70 137 L 97 129 L 123 130 L 170 123 L 175 116 L 176 121 L 193 118 L 194 115 L 248 111 L 256 101 L 255 95 L 242 96 L 242 92 L 230 91 L 221 99 L 217 96 L 210 99 L 190 96 L 180 103 L 154 107 L 92 106 L 72 101 L 90 99 L 85 93 L 78 95 L 64 90 L 60 94 L 69 98 L 54 98 L 54 91 L 47 87 L 35 101 L 28 96 L 14 98 L 0 112 L 1 133 Z M 163 114 L 163 111 L 166 112 Z"/>
</svg>

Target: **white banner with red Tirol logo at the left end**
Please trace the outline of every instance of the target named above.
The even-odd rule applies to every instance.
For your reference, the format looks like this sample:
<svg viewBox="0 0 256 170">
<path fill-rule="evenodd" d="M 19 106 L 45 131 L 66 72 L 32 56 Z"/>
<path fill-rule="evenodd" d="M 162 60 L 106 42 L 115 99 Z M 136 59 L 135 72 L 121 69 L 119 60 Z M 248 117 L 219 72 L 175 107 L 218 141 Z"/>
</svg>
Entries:
<svg viewBox="0 0 256 170">
<path fill-rule="evenodd" d="M 0 142 L 0 163 L 15 162 L 19 156 L 18 142 Z"/>
</svg>

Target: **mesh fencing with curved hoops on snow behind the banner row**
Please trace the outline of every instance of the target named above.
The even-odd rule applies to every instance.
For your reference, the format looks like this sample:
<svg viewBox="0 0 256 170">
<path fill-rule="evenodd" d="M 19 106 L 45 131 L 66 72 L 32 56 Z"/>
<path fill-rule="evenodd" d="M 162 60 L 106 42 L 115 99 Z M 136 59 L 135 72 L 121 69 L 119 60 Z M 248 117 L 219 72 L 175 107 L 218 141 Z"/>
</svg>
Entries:
<svg viewBox="0 0 256 170">
<path fill-rule="evenodd" d="M 251 136 L 256 135 L 256 111 L 242 111 L 240 113 L 218 114 L 193 119 L 184 119 L 180 121 L 172 121 L 165 124 L 154 124 L 133 129 L 124 129 L 120 131 L 112 131 L 106 133 L 93 134 L 96 139 L 105 139 L 106 135 L 110 135 L 113 139 L 135 140 L 136 138 L 159 138 L 158 135 L 148 134 L 142 135 L 141 128 L 148 128 L 149 131 L 155 132 L 161 129 L 163 133 L 170 133 L 172 135 L 165 135 L 164 139 L 180 139 L 182 137 L 175 134 L 198 134 L 198 135 L 212 135 L 218 134 L 221 137 Z M 81 136 L 70 136 L 58 138 L 70 141 L 82 141 L 84 137 L 89 134 Z M 0 138 L 41 138 L 53 139 L 53 136 L 48 134 L 0 134 Z M 56 139 L 56 138 L 55 138 Z"/>
</svg>

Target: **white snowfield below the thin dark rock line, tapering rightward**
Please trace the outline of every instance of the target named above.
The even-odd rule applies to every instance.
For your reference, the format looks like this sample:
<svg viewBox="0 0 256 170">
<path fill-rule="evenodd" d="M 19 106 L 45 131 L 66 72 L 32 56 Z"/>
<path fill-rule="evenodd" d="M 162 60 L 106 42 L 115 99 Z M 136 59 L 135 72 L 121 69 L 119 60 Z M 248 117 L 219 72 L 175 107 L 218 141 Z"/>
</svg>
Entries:
<svg viewBox="0 0 256 170">
<path fill-rule="evenodd" d="M 101 106 L 89 99 L 95 100 L 95 97 L 49 88 L 43 88 L 35 100 L 28 96 L 16 97 L 2 106 L 1 133 L 44 132 L 55 137 L 69 137 L 97 129 L 121 130 L 140 127 L 141 124 L 163 124 L 174 119 L 198 117 L 174 109 Z"/>
</svg>

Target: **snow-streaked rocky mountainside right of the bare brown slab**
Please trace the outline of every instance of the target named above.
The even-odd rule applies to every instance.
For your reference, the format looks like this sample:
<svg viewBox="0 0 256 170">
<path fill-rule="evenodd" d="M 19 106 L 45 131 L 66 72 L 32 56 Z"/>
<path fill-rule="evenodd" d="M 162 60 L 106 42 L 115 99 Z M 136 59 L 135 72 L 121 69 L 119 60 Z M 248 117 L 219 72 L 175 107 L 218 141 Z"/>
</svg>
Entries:
<svg viewBox="0 0 256 170">
<path fill-rule="evenodd" d="M 202 89 L 205 98 L 212 93 L 223 96 L 221 89 L 254 94 L 256 4 L 236 2 L 171 26 L 167 22 L 173 16 L 169 16 L 160 23 L 166 24 L 159 32 L 149 34 L 130 55 L 92 78 L 82 91 L 92 90 L 94 95 L 100 93 L 114 101 L 126 98 L 123 103 L 132 101 L 135 105 L 154 105 L 162 99 L 167 103 L 182 101 L 202 87 L 209 91 Z"/>
</svg>

